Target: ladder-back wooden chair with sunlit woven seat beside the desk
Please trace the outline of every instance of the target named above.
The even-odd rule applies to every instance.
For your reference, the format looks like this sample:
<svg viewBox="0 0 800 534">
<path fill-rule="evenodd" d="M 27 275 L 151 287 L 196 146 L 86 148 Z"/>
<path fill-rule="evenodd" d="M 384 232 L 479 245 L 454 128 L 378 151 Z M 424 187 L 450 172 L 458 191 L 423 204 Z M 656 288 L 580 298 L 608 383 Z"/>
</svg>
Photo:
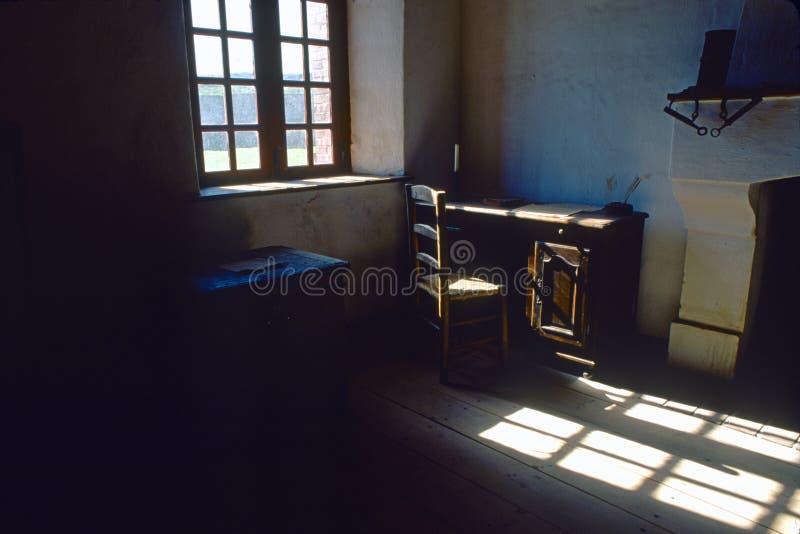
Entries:
<svg viewBox="0 0 800 534">
<path fill-rule="evenodd" d="M 449 354 L 464 345 L 499 342 L 503 362 L 508 359 L 508 314 L 505 288 L 499 284 L 479 278 L 454 273 L 450 262 L 450 242 L 446 226 L 446 194 L 424 185 L 406 185 L 406 208 L 410 237 L 410 251 L 414 261 L 416 277 L 416 303 L 420 318 L 439 331 L 440 367 L 439 380 L 448 382 Z M 420 208 L 432 210 L 431 224 L 418 218 Z M 430 253 L 420 247 L 420 240 L 428 240 Z M 432 243 L 430 243 L 432 242 Z M 432 297 L 436 303 L 435 317 L 427 317 L 421 309 L 422 297 Z M 451 304 L 471 299 L 497 299 L 497 313 L 472 319 L 451 321 Z M 497 335 L 475 340 L 463 345 L 451 345 L 451 329 L 497 321 Z"/>
</svg>

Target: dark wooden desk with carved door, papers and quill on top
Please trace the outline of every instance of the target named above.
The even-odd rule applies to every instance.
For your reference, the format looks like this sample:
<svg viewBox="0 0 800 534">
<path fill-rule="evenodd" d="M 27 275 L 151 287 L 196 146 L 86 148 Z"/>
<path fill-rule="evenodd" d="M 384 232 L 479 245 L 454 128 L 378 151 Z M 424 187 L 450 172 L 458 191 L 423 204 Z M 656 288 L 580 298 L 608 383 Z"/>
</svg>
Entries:
<svg viewBox="0 0 800 534">
<path fill-rule="evenodd" d="M 508 277 L 512 348 L 587 365 L 624 356 L 637 333 L 646 213 L 548 217 L 463 202 L 447 209 L 448 225 L 460 228 L 451 242 L 474 247 L 469 267 Z"/>
</svg>

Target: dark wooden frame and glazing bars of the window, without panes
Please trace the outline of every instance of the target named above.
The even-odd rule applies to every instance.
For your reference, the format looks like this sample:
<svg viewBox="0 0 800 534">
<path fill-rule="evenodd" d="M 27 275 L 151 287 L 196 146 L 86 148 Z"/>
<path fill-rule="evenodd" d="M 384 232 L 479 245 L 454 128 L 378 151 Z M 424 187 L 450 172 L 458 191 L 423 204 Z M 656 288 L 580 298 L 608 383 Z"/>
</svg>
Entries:
<svg viewBox="0 0 800 534">
<path fill-rule="evenodd" d="M 306 1 L 301 0 L 303 37 L 281 37 L 279 0 L 252 0 L 253 32 L 243 33 L 227 30 L 225 20 L 225 0 L 217 0 L 220 10 L 220 29 L 194 28 L 192 26 L 191 0 L 183 0 L 184 28 L 186 32 L 187 65 L 190 84 L 192 131 L 194 135 L 195 161 L 200 187 L 237 185 L 276 180 L 293 180 L 335 176 L 351 172 L 350 163 L 350 87 L 347 57 L 347 4 L 346 0 L 311 0 L 328 5 L 328 41 L 309 39 L 306 24 Z M 197 76 L 194 35 L 210 35 L 222 40 L 223 77 L 209 78 Z M 228 65 L 227 39 L 246 38 L 253 40 L 255 80 L 231 78 Z M 303 43 L 304 80 L 283 80 L 281 62 L 281 42 Z M 330 83 L 318 84 L 309 79 L 308 45 L 326 44 L 330 54 Z M 226 125 L 201 126 L 200 94 L 198 84 L 223 85 L 225 89 Z M 255 85 L 257 125 L 233 124 L 233 85 Z M 306 123 L 287 125 L 283 100 L 283 88 L 302 86 L 306 88 Z M 320 85 L 331 89 L 333 138 L 333 163 L 313 164 L 314 124 L 311 116 L 311 92 Z M 271 111 L 271 112 L 270 112 Z M 286 130 L 303 129 L 307 133 L 309 165 L 289 167 L 286 150 Z M 235 170 L 235 134 L 237 130 L 258 131 L 259 156 L 258 169 Z M 203 131 L 223 131 L 228 134 L 228 152 L 231 169 L 228 171 L 206 172 L 203 156 Z"/>
</svg>

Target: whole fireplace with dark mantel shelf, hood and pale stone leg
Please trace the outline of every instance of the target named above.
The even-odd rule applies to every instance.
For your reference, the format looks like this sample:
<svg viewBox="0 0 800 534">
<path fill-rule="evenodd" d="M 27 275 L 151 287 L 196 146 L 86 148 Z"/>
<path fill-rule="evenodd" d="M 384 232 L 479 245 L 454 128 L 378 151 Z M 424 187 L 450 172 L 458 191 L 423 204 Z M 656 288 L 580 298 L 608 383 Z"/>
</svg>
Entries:
<svg viewBox="0 0 800 534">
<path fill-rule="evenodd" d="M 770 312 L 759 306 L 762 285 L 772 287 L 762 281 L 782 260 L 780 247 L 766 246 L 772 239 L 766 232 L 786 224 L 768 222 L 778 209 L 793 210 L 776 195 L 798 189 L 773 184 L 800 176 L 799 15 L 794 0 L 745 0 L 732 50 L 728 46 L 730 68 L 720 70 L 725 83 L 704 86 L 700 76 L 680 98 L 670 95 L 674 109 L 666 111 L 683 122 L 673 126 L 669 176 L 687 229 L 671 364 L 734 377 Z M 713 56 L 704 54 L 704 60 Z M 726 117 L 735 121 L 726 124 Z M 787 246 L 794 241 L 789 232 Z"/>
</svg>

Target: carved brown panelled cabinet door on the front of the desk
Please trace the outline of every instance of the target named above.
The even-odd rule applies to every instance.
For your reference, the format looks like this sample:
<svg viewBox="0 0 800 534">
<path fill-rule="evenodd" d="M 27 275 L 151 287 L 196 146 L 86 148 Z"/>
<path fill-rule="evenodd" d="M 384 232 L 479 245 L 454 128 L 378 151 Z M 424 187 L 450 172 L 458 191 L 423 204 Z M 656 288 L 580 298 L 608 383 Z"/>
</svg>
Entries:
<svg viewBox="0 0 800 534">
<path fill-rule="evenodd" d="M 528 270 L 533 281 L 526 306 L 531 327 L 543 337 L 585 346 L 589 251 L 537 241 Z"/>
</svg>

